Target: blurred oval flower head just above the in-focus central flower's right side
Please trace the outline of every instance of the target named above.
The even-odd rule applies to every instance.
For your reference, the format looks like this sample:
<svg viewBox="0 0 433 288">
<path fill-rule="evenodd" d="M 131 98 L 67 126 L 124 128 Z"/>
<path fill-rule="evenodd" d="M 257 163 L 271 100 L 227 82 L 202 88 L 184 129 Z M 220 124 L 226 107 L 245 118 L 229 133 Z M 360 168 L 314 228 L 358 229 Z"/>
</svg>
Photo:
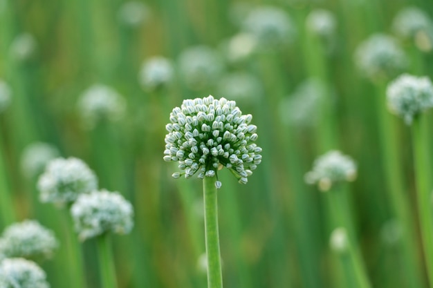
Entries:
<svg viewBox="0 0 433 288">
<path fill-rule="evenodd" d="M 264 92 L 260 79 L 250 73 L 234 72 L 224 75 L 218 84 L 219 95 L 237 102 L 257 102 Z"/>
</svg>

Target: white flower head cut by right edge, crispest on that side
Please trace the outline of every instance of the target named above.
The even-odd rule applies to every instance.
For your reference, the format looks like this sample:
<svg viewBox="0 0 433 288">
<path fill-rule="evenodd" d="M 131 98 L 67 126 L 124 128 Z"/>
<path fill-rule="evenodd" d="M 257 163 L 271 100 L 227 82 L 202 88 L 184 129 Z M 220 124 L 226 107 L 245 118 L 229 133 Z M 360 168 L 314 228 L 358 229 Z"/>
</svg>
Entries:
<svg viewBox="0 0 433 288">
<path fill-rule="evenodd" d="M 428 77 L 400 75 L 387 87 L 389 111 L 411 124 L 412 119 L 433 106 L 433 84 Z"/>
</svg>

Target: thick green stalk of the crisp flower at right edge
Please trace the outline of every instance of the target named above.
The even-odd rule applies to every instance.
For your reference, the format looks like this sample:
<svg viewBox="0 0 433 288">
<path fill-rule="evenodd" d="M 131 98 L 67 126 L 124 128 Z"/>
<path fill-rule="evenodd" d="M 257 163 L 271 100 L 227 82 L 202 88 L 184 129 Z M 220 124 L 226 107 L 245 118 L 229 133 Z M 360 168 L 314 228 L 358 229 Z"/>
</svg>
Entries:
<svg viewBox="0 0 433 288">
<path fill-rule="evenodd" d="M 433 209 L 430 147 L 428 146 L 427 115 L 418 115 L 412 124 L 414 170 L 418 219 L 423 240 L 425 267 L 430 287 L 433 287 Z"/>
</svg>

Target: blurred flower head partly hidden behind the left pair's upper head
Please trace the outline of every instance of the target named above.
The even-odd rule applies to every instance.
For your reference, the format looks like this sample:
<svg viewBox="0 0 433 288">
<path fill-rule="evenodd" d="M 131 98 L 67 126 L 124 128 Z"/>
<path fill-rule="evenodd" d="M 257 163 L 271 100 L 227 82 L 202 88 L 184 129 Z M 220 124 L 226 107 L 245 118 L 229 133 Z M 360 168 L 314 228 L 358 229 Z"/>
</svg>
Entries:
<svg viewBox="0 0 433 288">
<path fill-rule="evenodd" d="M 29 144 L 21 155 L 21 171 L 28 178 L 35 177 L 44 172 L 46 164 L 57 157 L 59 151 L 51 144 L 44 142 Z"/>
</svg>

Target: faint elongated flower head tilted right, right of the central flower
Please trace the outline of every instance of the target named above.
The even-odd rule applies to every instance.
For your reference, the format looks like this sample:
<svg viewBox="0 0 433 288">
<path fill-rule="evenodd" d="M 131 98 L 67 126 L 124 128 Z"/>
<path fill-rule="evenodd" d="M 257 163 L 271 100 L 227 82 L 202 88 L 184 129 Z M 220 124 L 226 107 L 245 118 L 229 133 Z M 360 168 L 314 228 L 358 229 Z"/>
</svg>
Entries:
<svg viewBox="0 0 433 288">
<path fill-rule="evenodd" d="M 292 95 L 282 100 L 279 106 L 282 122 L 298 127 L 317 124 L 324 89 L 324 84 L 318 79 L 310 78 L 302 82 Z"/>
</svg>

